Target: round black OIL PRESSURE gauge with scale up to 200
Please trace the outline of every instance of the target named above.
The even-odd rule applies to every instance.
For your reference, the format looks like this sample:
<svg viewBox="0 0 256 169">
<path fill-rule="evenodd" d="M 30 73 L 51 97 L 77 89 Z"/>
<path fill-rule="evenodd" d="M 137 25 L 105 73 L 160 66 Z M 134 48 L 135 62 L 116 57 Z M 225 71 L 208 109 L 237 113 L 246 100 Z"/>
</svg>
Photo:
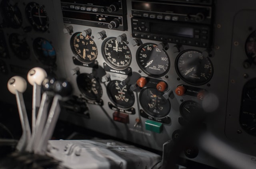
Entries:
<svg viewBox="0 0 256 169">
<path fill-rule="evenodd" d="M 136 56 L 142 71 L 150 76 L 163 76 L 170 69 L 170 59 L 166 51 L 158 49 L 154 43 L 141 45 Z"/>
</svg>

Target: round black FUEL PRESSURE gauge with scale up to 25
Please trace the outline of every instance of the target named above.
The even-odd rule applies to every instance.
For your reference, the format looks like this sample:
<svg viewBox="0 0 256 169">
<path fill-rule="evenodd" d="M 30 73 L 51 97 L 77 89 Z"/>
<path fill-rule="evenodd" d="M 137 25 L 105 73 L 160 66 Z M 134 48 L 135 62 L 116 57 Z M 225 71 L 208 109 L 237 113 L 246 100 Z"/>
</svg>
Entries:
<svg viewBox="0 0 256 169">
<path fill-rule="evenodd" d="M 186 83 L 203 85 L 212 78 L 213 66 L 210 59 L 200 51 L 187 50 L 176 58 L 176 71 Z"/>
</svg>

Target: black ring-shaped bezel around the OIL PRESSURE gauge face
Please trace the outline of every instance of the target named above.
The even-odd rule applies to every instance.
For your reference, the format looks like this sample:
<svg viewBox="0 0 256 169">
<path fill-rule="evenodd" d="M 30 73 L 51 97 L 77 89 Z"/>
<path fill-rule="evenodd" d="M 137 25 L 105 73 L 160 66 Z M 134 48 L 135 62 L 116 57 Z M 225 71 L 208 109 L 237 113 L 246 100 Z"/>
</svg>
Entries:
<svg viewBox="0 0 256 169">
<path fill-rule="evenodd" d="M 146 73 L 147 75 L 152 76 L 152 77 L 162 77 L 162 76 L 166 75 L 168 73 L 168 71 L 170 70 L 171 63 L 170 63 L 170 57 L 169 57 L 168 53 L 166 52 L 166 50 L 164 50 L 164 49 L 162 49 L 162 51 L 166 54 L 166 56 L 168 58 L 168 63 L 169 63 L 166 71 L 161 74 L 152 74 L 152 73 L 148 73 L 146 70 L 144 70 L 144 67 L 142 67 L 142 65 L 140 64 L 139 53 L 142 50 L 142 48 L 144 48 L 146 45 L 156 45 L 156 44 L 155 43 L 143 43 L 142 45 L 140 45 L 140 47 L 136 51 L 136 61 L 137 61 L 138 66 L 144 73 Z"/>
</svg>

